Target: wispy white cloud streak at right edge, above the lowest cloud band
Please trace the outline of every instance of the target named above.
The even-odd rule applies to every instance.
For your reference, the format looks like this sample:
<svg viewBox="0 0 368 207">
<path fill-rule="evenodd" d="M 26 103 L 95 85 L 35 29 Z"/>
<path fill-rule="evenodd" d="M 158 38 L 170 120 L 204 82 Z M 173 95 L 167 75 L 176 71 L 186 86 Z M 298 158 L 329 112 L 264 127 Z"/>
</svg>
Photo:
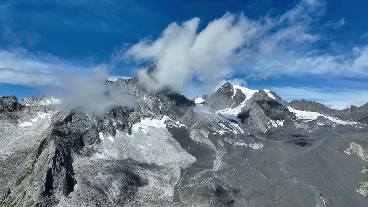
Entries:
<svg viewBox="0 0 368 207">
<path fill-rule="evenodd" d="M 368 77 L 368 46 L 355 47 L 346 55 L 319 55 L 317 51 L 289 51 L 265 58 L 253 66 L 253 77 L 272 75 L 327 75 L 329 77 Z"/>
</svg>

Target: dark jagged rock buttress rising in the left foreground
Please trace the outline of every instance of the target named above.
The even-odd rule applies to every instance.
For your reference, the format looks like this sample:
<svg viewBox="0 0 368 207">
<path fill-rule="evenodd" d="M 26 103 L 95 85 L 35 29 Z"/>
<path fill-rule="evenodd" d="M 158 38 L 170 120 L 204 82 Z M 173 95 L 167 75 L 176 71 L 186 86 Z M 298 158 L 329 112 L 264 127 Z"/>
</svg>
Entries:
<svg viewBox="0 0 368 207">
<path fill-rule="evenodd" d="M 83 113 L 59 112 L 51 123 L 42 134 L 31 165 L 35 173 L 33 199 L 37 203 L 45 197 L 68 196 L 77 184 L 72 155 L 100 143 L 97 127 Z"/>
</svg>

